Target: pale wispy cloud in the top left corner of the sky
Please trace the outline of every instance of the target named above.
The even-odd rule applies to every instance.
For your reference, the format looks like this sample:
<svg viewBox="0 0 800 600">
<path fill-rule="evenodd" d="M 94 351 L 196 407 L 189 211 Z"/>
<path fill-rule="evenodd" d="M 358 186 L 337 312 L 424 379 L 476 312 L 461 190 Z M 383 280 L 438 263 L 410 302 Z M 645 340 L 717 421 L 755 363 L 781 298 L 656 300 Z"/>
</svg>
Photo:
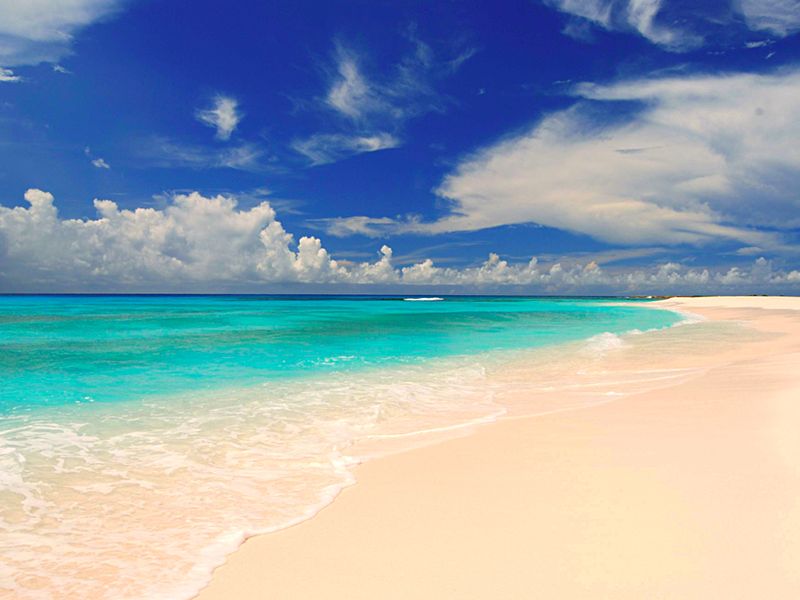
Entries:
<svg viewBox="0 0 800 600">
<path fill-rule="evenodd" d="M 123 0 L 4 0 L 0 2 L 0 65 L 57 62 L 75 34 L 108 18 Z"/>
</svg>

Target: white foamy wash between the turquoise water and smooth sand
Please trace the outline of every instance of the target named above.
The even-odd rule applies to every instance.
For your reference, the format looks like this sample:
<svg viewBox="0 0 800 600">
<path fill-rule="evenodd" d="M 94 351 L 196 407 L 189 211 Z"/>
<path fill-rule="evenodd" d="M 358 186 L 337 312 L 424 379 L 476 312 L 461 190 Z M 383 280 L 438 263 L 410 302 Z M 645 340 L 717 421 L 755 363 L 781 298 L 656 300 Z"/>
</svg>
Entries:
<svg viewBox="0 0 800 600">
<path fill-rule="evenodd" d="M 9 417 L 0 596 L 191 597 L 244 539 L 351 485 L 360 440 L 495 418 L 485 377 L 461 359 Z"/>
</svg>

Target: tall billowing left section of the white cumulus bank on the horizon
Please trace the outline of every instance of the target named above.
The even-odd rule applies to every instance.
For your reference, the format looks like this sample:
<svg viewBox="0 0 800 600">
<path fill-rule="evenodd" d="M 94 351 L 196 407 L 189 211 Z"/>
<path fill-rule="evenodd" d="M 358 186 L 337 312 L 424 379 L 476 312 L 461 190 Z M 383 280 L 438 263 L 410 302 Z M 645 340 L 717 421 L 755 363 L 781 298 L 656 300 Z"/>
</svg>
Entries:
<svg viewBox="0 0 800 600">
<path fill-rule="evenodd" d="M 0 207 L 3 278 L 54 286 L 96 281 L 325 281 L 338 269 L 319 241 L 293 238 L 269 203 L 239 210 L 226 196 L 179 194 L 164 209 L 95 200 L 96 219 L 61 219 L 53 196 Z"/>
</svg>

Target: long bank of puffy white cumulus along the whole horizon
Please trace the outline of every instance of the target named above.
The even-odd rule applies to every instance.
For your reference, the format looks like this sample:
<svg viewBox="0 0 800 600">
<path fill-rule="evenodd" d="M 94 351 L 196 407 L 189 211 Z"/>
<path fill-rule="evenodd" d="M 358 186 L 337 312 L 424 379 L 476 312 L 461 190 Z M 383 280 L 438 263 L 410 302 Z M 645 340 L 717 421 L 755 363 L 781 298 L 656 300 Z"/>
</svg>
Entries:
<svg viewBox="0 0 800 600">
<path fill-rule="evenodd" d="M 496 254 L 480 265 L 439 267 L 431 259 L 393 264 L 389 246 L 376 260 L 338 261 L 315 237 L 296 243 L 269 202 L 241 209 L 231 196 L 177 194 L 163 208 L 120 209 L 95 200 L 95 219 L 62 219 L 52 194 L 31 189 L 27 206 L 0 206 L 2 291 L 180 291 L 264 289 L 275 283 L 450 286 L 547 293 L 793 290 L 800 271 L 765 258 L 712 271 L 663 263 L 604 269 L 595 260 L 511 264 Z M 598 260 L 599 257 L 598 257 Z M 228 287 L 226 287 L 228 286 Z M 332 288 L 335 289 L 335 288 Z"/>
</svg>

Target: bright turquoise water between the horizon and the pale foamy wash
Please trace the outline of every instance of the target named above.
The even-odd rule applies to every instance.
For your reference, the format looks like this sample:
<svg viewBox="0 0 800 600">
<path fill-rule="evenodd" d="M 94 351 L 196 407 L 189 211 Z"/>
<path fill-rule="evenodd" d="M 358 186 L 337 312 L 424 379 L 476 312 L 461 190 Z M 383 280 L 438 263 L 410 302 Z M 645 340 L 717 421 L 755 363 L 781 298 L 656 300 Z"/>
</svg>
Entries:
<svg viewBox="0 0 800 600">
<path fill-rule="evenodd" d="M 665 327 L 608 299 L 0 297 L 0 412 L 135 400 Z"/>
</svg>

